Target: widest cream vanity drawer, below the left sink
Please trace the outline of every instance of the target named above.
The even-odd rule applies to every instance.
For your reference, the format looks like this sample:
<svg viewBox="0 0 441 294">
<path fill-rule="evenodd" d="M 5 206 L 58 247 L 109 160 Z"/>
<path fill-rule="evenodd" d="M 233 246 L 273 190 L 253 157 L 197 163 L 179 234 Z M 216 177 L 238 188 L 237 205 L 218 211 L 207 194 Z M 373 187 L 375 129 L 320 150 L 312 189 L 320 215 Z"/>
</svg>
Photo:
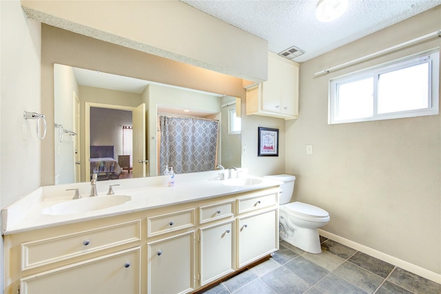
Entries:
<svg viewBox="0 0 441 294">
<path fill-rule="evenodd" d="M 21 244 L 21 269 L 92 253 L 141 240 L 141 221 L 106 226 Z"/>
</svg>

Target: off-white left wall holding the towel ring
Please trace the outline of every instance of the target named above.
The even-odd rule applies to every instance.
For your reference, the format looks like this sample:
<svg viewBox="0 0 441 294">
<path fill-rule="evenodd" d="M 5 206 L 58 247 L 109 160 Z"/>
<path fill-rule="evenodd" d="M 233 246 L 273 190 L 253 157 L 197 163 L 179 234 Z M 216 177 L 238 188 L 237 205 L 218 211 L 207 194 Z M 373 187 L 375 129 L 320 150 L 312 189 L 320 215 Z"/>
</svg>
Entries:
<svg viewBox="0 0 441 294">
<path fill-rule="evenodd" d="M 0 1 L 0 13 L 0 207 L 4 208 L 40 186 L 37 122 L 25 121 L 23 112 L 41 112 L 41 29 L 25 17 L 19 1 Z M 3 277 L 3 239 L 0 249 Z"/>
</svg>

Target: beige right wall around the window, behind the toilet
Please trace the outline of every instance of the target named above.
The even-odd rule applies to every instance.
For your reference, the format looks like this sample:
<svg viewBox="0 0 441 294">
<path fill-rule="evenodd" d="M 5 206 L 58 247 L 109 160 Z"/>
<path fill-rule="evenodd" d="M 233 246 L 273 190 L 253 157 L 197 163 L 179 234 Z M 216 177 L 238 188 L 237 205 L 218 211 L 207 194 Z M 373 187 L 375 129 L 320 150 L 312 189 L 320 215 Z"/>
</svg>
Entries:
<svg viewBox="0 0 441 294">
<path fill-rule="evenodd" d="M 441 39 L 329 75 L 314 77 L 314 73 L 440 28 L 438 6 L 302 63 L 299 117 L 287 121 L 285 130 L 289 148 L 285 170 L 297 177 L 294 199 L 329 212 L 331 221 L 325 231 L 400 259 L 402 266 L 406 262 L 416 265 L 421 275 L 438 278 L 438 282 L 440 115 L 328 125 L 327 96 L 332 77 L 440 46 Z M 305 154 L 306 144 L 314 144 L 314 155 Z"/>
</svg>

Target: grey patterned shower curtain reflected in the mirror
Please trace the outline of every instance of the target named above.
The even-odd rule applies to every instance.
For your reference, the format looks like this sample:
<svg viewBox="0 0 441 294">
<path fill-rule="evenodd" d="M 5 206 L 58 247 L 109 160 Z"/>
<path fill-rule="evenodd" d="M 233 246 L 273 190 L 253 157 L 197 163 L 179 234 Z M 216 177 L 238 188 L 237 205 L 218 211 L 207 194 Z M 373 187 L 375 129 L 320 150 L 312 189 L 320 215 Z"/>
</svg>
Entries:
<svg viewBox="0 0 441 294">
<path fill-rule="evenodd" d="M 219 121 L 159 117 L 161 129 L 160 174 L 164 166 L 175 173 L 214 170 L 217 162 Z"/>
</svg>

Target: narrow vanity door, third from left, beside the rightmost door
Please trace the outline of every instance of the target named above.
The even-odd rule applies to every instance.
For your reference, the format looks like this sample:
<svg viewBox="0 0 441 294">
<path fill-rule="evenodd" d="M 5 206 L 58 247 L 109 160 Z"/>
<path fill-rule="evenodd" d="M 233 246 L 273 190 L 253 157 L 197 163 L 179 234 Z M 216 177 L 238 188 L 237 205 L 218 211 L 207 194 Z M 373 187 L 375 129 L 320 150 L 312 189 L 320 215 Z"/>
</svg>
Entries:
<svg viewBox="0 0 441 294">
<path fill-rule="evenodd" d="M 234 271 L 233 222 L 201 228 L 201 286 Z"/>
</svg>

